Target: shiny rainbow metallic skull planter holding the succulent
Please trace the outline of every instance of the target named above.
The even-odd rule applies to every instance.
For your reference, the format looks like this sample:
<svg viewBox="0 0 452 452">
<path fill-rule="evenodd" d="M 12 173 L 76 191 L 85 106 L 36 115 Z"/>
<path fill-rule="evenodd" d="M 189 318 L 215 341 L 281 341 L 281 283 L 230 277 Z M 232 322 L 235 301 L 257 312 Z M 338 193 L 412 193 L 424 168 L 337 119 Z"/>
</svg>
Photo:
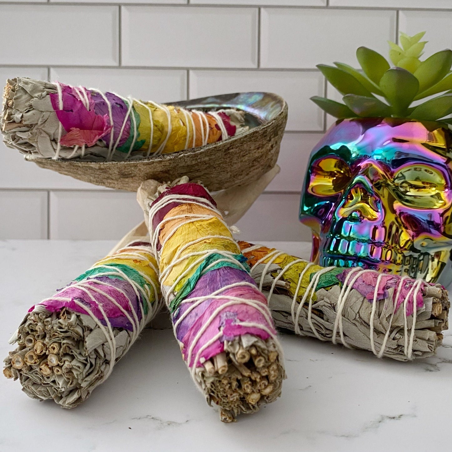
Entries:
<svg viewBox="0 0 452 452">
<path fill-rule="evenodd" d="M 452 281 L 452 136 L 435 122 L 339 120 L 311 153 L 311 260 Z"/>
</svg>

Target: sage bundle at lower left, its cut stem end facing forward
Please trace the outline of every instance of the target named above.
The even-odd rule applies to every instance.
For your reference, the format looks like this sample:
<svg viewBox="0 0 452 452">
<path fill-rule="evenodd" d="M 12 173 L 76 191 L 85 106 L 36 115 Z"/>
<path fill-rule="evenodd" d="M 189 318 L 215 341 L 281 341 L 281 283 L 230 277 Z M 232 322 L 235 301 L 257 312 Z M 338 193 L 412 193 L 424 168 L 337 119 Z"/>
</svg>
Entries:
<svg viewBox="0 0 452 452">
<path fill-rule="evenodd" d="M 72 408 L 108 378 L 159 303 L 150 244 L 131 243 L 30 308 L 3 373 L 33 399 Z"/>
</svg>

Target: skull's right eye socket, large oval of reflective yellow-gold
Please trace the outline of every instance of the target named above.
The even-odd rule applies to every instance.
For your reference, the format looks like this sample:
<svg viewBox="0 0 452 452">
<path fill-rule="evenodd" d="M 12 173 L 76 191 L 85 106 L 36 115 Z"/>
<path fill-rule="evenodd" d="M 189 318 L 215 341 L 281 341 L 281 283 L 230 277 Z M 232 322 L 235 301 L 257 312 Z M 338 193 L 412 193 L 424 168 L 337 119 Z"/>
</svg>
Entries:
<svg viewBox="0 0 452 452">
<path fill-rule="evenodd" d="M 410 207 L 437 209 L 446 204 L 446 180 L 441 171 L 427 165 L 409 165 L 394 176 L 395 197 Z"/>
</svg>

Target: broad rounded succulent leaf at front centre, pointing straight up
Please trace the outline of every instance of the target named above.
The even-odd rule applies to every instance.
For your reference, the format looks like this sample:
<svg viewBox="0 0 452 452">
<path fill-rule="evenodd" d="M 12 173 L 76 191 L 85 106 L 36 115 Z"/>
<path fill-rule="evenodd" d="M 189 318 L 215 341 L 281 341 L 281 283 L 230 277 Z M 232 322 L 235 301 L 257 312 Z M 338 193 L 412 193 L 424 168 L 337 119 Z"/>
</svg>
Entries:
<svg viewBox="0 0 452 452">
<path fill-rule="evenodd" d="M 395 67 L 381 77 L 380 88 L 393 107 L 393 113 L 403 117 L 419 90 L 419 81 L 409 71 Z"/>
</svg>

